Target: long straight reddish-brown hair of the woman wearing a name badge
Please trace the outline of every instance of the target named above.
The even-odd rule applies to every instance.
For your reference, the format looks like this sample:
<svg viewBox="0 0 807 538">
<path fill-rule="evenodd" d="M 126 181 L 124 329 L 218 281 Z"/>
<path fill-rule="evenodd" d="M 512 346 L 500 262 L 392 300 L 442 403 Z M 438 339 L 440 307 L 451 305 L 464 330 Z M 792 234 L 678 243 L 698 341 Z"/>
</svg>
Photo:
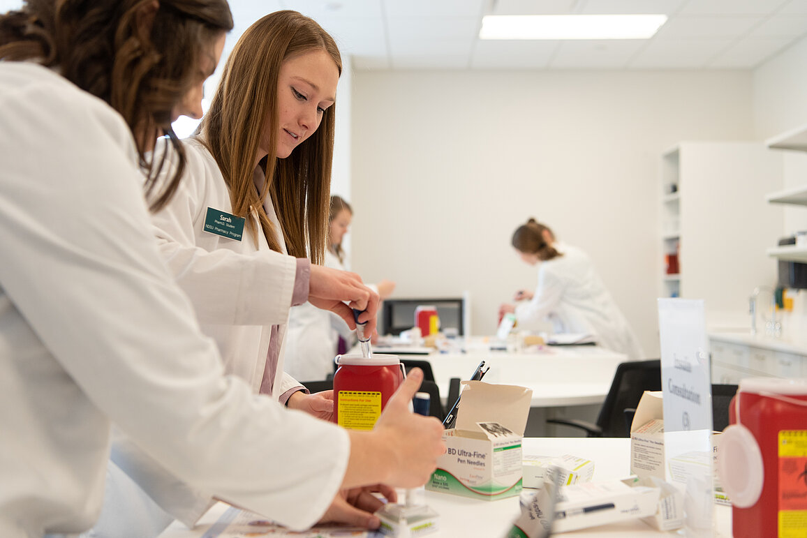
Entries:
<svg viewBox="0 0 807 538">
<path fill-rule="evenodd" d="M 278 159 L 275 154 L 281 65 L 291 56 L 313 50 L 327 52 L 341 75 L 337 44 L 313 19 L 290 10 L 259 19 L 230 53 L 200 132 L 230 190 L 232 212 L 246 218 L 254 208 L 270 248 L 280 252 L 263 208 L 266 196 L 271 196 L 289 254 L 309 256 L 320 264 L 328 236 L 336 104 L 328 106 L 320 127 L 290 156 Z M 261 196 L 253 184 L 253 170 L 266 125 L 269 154 L 260 163 L 266 173 Z M 255 223 L 249 218 L 246 222 L 257 245 Z"/>
</svg>

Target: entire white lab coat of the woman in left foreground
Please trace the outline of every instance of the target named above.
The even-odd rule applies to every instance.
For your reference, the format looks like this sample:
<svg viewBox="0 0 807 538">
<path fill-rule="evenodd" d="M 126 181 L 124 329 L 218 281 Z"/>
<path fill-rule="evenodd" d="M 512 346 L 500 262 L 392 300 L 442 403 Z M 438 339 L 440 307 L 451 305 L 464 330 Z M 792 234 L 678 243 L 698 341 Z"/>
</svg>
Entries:
<svg viewBox="0 0 807 538">
<path fill-rule="evenodd" d="M 111 421 L 199 490 L 316 522 L 349 438 L 224 376 L 157 251 L 123 119 L 0 62 L 0 162 L 0 536 L 90 527 Z"/>
</svg>

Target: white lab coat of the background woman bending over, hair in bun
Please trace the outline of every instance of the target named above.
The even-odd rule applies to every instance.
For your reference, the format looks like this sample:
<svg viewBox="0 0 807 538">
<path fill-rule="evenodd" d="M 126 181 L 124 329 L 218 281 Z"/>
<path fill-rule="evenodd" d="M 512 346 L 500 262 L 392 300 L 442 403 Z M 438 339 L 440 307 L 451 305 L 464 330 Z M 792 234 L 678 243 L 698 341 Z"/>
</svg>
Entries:
<svg viewBox="0 0 807 538">
<path fill-rule="evenodd" d="M 588 256 L 567 244 L 556 243 L 555 248 L 563 255 L 538 263 L 532 300 L 516 306 L 519 325 L 529 327 L 549 319 L 554 332 L 590 334 L 605 348 L 625 353 L 631 360 L 645 358 Z"/>
</svg>

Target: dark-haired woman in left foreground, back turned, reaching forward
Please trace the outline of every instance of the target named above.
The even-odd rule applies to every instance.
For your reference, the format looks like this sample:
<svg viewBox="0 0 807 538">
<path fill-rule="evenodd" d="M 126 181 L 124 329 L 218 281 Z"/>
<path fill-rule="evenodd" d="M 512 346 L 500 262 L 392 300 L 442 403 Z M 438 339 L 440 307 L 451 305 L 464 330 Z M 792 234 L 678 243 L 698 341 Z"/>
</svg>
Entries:
<svg viewBox="0 0 807 538">
<path fill-rule="evenodd" d="M 144 169 L 161 168 L 156 137 L 175 140 L 174 106 L 214 69 L 229 28 L 224 0 L 31 0 L 0 15 L 3 538 L 92 525 L 113 421 L 182 481 L 297 529 L 341 488 L 423 484 L 445 450 L 440 423 L 408 411 L 420 374 L 372 432 L 225 376 L 166 271 Z M 374 310 L 343 283 L 337 295 Z"/>
</svg>

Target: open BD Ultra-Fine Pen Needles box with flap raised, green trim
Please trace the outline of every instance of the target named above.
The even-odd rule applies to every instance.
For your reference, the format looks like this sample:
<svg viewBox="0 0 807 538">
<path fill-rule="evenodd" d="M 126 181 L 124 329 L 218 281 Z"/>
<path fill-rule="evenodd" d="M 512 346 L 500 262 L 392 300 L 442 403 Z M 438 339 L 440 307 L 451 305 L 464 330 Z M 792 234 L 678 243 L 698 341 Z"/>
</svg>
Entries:
<svg viewBox="0 0 807 538">
<path fill-rule="evenodd" d="M 521 440 L 533 391 L 462 382 L 456 427 L 443 432 L 446 452 L 426 490 L 495 500 L 521 492 Z"/>
</svg>

